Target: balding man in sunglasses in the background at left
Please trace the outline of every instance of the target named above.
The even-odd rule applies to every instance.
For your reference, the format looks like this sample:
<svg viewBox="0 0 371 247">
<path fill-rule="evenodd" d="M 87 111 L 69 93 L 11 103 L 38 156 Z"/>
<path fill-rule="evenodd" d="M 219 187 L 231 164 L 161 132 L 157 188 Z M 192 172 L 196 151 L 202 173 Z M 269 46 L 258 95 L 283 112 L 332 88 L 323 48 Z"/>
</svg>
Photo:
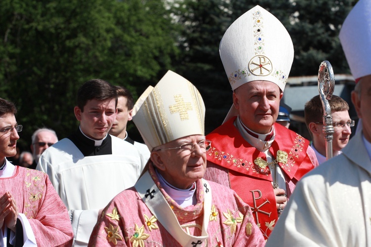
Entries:
<svg viewBox="0 0 371 247">
<path fill-rule="evenodd" d="M 48 147 L 58 141 L 58 137 L 52 129 L 39 128 L 32 134 L 31 140 L 31 152 L 34 157 L 34 163 L 29 168 L 36 169 L 40 156 Z"/>
</svg>

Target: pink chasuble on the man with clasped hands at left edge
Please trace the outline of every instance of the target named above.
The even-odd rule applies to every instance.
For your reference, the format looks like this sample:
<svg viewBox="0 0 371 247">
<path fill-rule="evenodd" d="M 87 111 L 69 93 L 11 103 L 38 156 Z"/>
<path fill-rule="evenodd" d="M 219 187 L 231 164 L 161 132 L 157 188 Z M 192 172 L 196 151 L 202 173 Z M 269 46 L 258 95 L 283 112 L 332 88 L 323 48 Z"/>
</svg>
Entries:
<svg viewBox="0 0 371 247">
<path fill-rule="evenodd" d="M 0 177 L 0 195 L 10 192 L 19 213 L 30 223 L 37 246 L 71 246 L 73 232 L 68 212 L 44 172 L 14 166 L 13 175 Z M 11 167 L 12 166 L 12 167 Z"/>
</svg>

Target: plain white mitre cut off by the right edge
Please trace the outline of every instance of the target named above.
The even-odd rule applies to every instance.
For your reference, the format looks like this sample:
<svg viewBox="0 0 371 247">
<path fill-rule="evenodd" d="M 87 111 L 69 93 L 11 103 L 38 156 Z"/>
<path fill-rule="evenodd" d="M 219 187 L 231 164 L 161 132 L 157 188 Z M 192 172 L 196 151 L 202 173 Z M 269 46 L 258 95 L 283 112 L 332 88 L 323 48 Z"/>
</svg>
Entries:
<svg viewBox="0 0 371 247">
<path fill-rule="evenodd" d="M 339 34 L 353 78 L 371 75 L 371 0 L 359 0 Z"/>
</svg>

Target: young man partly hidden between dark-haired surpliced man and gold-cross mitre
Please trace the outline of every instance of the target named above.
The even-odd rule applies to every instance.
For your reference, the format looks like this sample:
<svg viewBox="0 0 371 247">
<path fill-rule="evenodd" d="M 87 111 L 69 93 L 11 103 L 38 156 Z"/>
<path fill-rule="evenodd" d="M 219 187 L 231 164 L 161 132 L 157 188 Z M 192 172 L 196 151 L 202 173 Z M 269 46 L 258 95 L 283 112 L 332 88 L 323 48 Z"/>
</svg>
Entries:
<svg viewBox="0 0 371 247">
<path fill-rule="evenodd" d="M 115 121 L 112 124 L 109 134 L 119 137 L 131 144 L 134 147 L 139 149 L 139 152 L 143 155 L 144 160 L 148 161 L 151 153 L 149 152 L 148 147 L 140 142 L 132 140 L 126 127 L 129 121 L 133 119 L 133 107 L 134 99 L 132 93 L 123 86 L 115 86 L 117 92 L 117 116 Z"/>
</svg>

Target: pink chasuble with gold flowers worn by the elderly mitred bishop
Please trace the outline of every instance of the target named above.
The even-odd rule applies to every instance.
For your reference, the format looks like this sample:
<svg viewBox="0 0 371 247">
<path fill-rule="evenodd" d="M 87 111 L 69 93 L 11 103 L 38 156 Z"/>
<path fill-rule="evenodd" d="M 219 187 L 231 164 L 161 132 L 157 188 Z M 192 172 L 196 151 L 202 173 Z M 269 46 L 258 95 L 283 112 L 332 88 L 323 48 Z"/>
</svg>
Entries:
<svg viewBox="0 0 371 247">
<path fill-rule="evenodd" d="M 104 208 L 89 246 L 264 246 L 249 206 L 232 190 L 199 179 L 196 205 L 183 208 L 161 187 L 152 164 L 141 178 Z M 153 199 L 158 205 L 148 203 Z"/>
</svg>

